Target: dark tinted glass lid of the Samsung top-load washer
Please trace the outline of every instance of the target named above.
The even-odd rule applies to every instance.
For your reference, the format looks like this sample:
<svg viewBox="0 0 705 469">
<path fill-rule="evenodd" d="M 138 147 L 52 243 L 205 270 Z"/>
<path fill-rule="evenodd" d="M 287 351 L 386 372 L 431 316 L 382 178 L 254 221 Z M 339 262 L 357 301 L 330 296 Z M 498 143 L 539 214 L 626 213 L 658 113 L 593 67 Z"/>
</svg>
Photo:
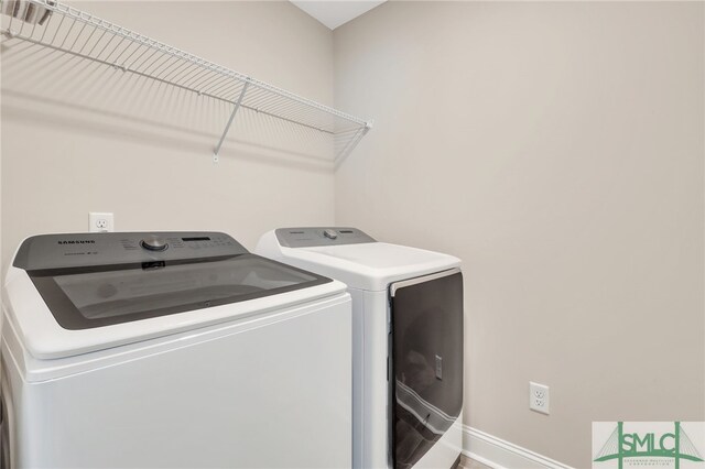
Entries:
<svg viewBox="0 0 705 469">
<path fill-rule="evenodd" d="M 66 329 L 208 308 L 330 282 L 254 254 L 29 274 Z"/>
</svg>

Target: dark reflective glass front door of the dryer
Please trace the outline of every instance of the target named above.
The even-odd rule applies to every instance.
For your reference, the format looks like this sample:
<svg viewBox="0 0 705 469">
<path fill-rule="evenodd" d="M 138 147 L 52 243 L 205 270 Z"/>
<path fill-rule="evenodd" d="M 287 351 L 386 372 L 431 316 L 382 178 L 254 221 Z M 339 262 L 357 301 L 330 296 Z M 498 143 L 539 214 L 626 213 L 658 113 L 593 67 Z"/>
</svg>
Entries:
<svg viewBox="0 0 705 469">
<path fill-rule="evenodd" d="M 463 410 L 463 274 L 391 285 L 390 440 L 394 468 L 412 467 Z"/>
</svg>

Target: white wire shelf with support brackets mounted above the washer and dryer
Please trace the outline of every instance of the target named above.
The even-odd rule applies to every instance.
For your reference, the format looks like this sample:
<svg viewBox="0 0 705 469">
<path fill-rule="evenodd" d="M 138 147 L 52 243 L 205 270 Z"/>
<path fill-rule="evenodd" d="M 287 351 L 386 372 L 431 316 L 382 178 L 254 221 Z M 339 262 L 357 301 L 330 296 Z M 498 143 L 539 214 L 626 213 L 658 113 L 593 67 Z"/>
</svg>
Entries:
<svg viewBox="0 0 705 469">
<path fill-rule="evenodd" d="M 241 109 L 334 139 L 336 162 L 371 123 L 53 0 L 1 0 L 4 41 L 21 40 L 232 106 L 214 160 Z"/>
</svg>

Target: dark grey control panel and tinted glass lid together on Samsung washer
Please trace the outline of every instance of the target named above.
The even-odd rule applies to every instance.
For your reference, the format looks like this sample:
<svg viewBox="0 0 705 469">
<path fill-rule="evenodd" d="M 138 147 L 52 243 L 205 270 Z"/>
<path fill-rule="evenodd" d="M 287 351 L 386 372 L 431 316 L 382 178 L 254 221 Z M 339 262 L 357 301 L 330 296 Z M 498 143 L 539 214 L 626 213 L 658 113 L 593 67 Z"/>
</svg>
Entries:
<svg viewBox="0 0 705 469">
<path fill-rule="evenodd" d="M 56 321 L 72 330 L 330 282 L 250 254 L 227 234 L 203 232 L 39 236 L 22 243 L 14 265 L 25 269 Z"/>
</svg>

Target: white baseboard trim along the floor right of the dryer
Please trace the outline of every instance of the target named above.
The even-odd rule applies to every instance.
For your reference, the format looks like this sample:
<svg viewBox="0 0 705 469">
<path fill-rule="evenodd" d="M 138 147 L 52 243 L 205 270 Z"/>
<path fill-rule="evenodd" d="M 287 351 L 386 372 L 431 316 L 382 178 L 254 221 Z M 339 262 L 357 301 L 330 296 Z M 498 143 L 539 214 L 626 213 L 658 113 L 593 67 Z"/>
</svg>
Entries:
<svg viewBox="0 0 705 469">
<path fill-rule="evenodd" d="M 467 425 L 463 425 L 463 454 L 494 469 L 572 469 Z"/>
</svg>

